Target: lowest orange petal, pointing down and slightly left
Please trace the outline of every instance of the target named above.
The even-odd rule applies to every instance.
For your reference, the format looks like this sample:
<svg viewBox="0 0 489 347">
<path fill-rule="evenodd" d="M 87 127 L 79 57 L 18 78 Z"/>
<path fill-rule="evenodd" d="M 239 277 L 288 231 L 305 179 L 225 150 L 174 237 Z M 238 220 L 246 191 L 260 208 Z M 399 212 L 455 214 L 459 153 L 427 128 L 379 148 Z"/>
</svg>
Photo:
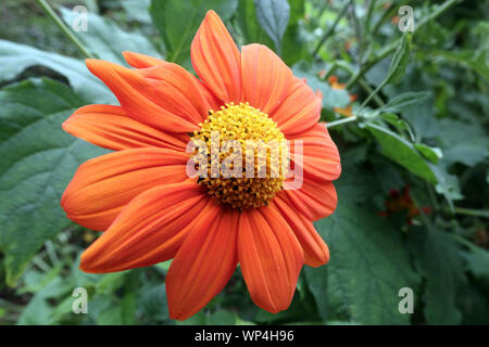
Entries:
<svg viewBox="0 0 489 347">
<path fill-rule="evenodd" d="M 172 319 L 186 320 L 225 287 L 238 264 L 238 220 L 237 210 L 220 208 L 211 226 L 187 236 L 165 279 Z"/>
</svg>

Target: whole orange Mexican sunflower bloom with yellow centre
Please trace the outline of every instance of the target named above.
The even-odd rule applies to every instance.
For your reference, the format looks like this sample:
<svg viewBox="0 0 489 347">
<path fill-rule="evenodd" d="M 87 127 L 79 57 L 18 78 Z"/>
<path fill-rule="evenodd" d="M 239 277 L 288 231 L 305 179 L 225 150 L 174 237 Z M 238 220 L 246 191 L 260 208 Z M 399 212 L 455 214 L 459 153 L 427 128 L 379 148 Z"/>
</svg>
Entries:
<svg viewBox="0 0 489 347">
<path fill-rule="evenodd" d="M 173 258 L 168 309 L 185 320 L 225 287 L 239 264 L 259 307 L 286 309 L 302 266 L 329 258 L 312 221 L 335 210 L 331 181 L 341 169 L 318 124 L 321 95 L 268 48 L 248 44 L 240 52 L 213 11 L 191 44 L 198 78 L 159 59 L 124 56 L 134 68 L 86 61 L 121 105 L 87 105 L 63 124 L 73 136 L 115 151 L 80 165 L 61 200 L 70 219 L 104 231 L 83 253 L 80 269 L 113 272 Z M 300 155 L 290 145 L 301 188 L 281 189 L 284 176 L 189 177 L 187 143 L 209 130 L 236 140 L 302 140 Z"/>
</svg>

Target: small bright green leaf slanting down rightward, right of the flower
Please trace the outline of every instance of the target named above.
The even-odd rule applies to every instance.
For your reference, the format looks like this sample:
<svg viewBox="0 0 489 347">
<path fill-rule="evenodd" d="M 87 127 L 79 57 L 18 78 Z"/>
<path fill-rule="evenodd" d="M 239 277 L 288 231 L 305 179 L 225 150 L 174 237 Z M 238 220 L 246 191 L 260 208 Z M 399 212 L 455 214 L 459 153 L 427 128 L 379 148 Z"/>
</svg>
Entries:
<svg viewBox="0 0 489 347">
<path fill-rule="evenodd" d="M 414 175 L 432 183 L 437 182 L 430 166 L 410 142 L 402 139 L 397 133 L 372 123 L 368 124 L 366 128 L 379 142 L 381 146 L 380 153 L 383 155 L 405 167 Z"/>
</svg>

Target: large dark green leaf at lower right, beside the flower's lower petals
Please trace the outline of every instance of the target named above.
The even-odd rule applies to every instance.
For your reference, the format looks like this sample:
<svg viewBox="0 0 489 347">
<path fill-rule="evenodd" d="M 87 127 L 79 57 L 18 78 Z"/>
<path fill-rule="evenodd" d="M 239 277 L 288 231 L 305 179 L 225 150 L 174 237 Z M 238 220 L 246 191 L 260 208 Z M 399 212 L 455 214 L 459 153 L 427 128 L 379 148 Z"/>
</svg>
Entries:
<svg viewBox="0 0 489 347">
<path fill-rule="evenodd" d="M 376 211 L 341 201 L 335 214 L 314 224 L 330 253 L 323 295 L 358 323 L 408 324 L 410 314 L 399 312 L 399 290 L 417 293 L 419 279 L 400 232 Z"/>
</svg>

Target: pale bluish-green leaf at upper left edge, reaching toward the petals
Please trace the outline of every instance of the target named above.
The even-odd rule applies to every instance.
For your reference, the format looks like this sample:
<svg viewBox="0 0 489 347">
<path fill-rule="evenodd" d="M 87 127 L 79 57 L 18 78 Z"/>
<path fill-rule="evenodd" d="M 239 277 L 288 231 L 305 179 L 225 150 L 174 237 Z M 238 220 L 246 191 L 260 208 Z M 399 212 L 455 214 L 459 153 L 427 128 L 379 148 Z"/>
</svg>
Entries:
<svg viewBox="0 0 489 347">
<path fill-rule="evenodd" d="M 26 68 L 37 65 L 46 66 L 66 77 L 73 89 L 87 101 L 115 101 L 109 88 L 91 75 L 83 61 L 0 40 L 0 81 L 14 79 Z"/>
</svg>

